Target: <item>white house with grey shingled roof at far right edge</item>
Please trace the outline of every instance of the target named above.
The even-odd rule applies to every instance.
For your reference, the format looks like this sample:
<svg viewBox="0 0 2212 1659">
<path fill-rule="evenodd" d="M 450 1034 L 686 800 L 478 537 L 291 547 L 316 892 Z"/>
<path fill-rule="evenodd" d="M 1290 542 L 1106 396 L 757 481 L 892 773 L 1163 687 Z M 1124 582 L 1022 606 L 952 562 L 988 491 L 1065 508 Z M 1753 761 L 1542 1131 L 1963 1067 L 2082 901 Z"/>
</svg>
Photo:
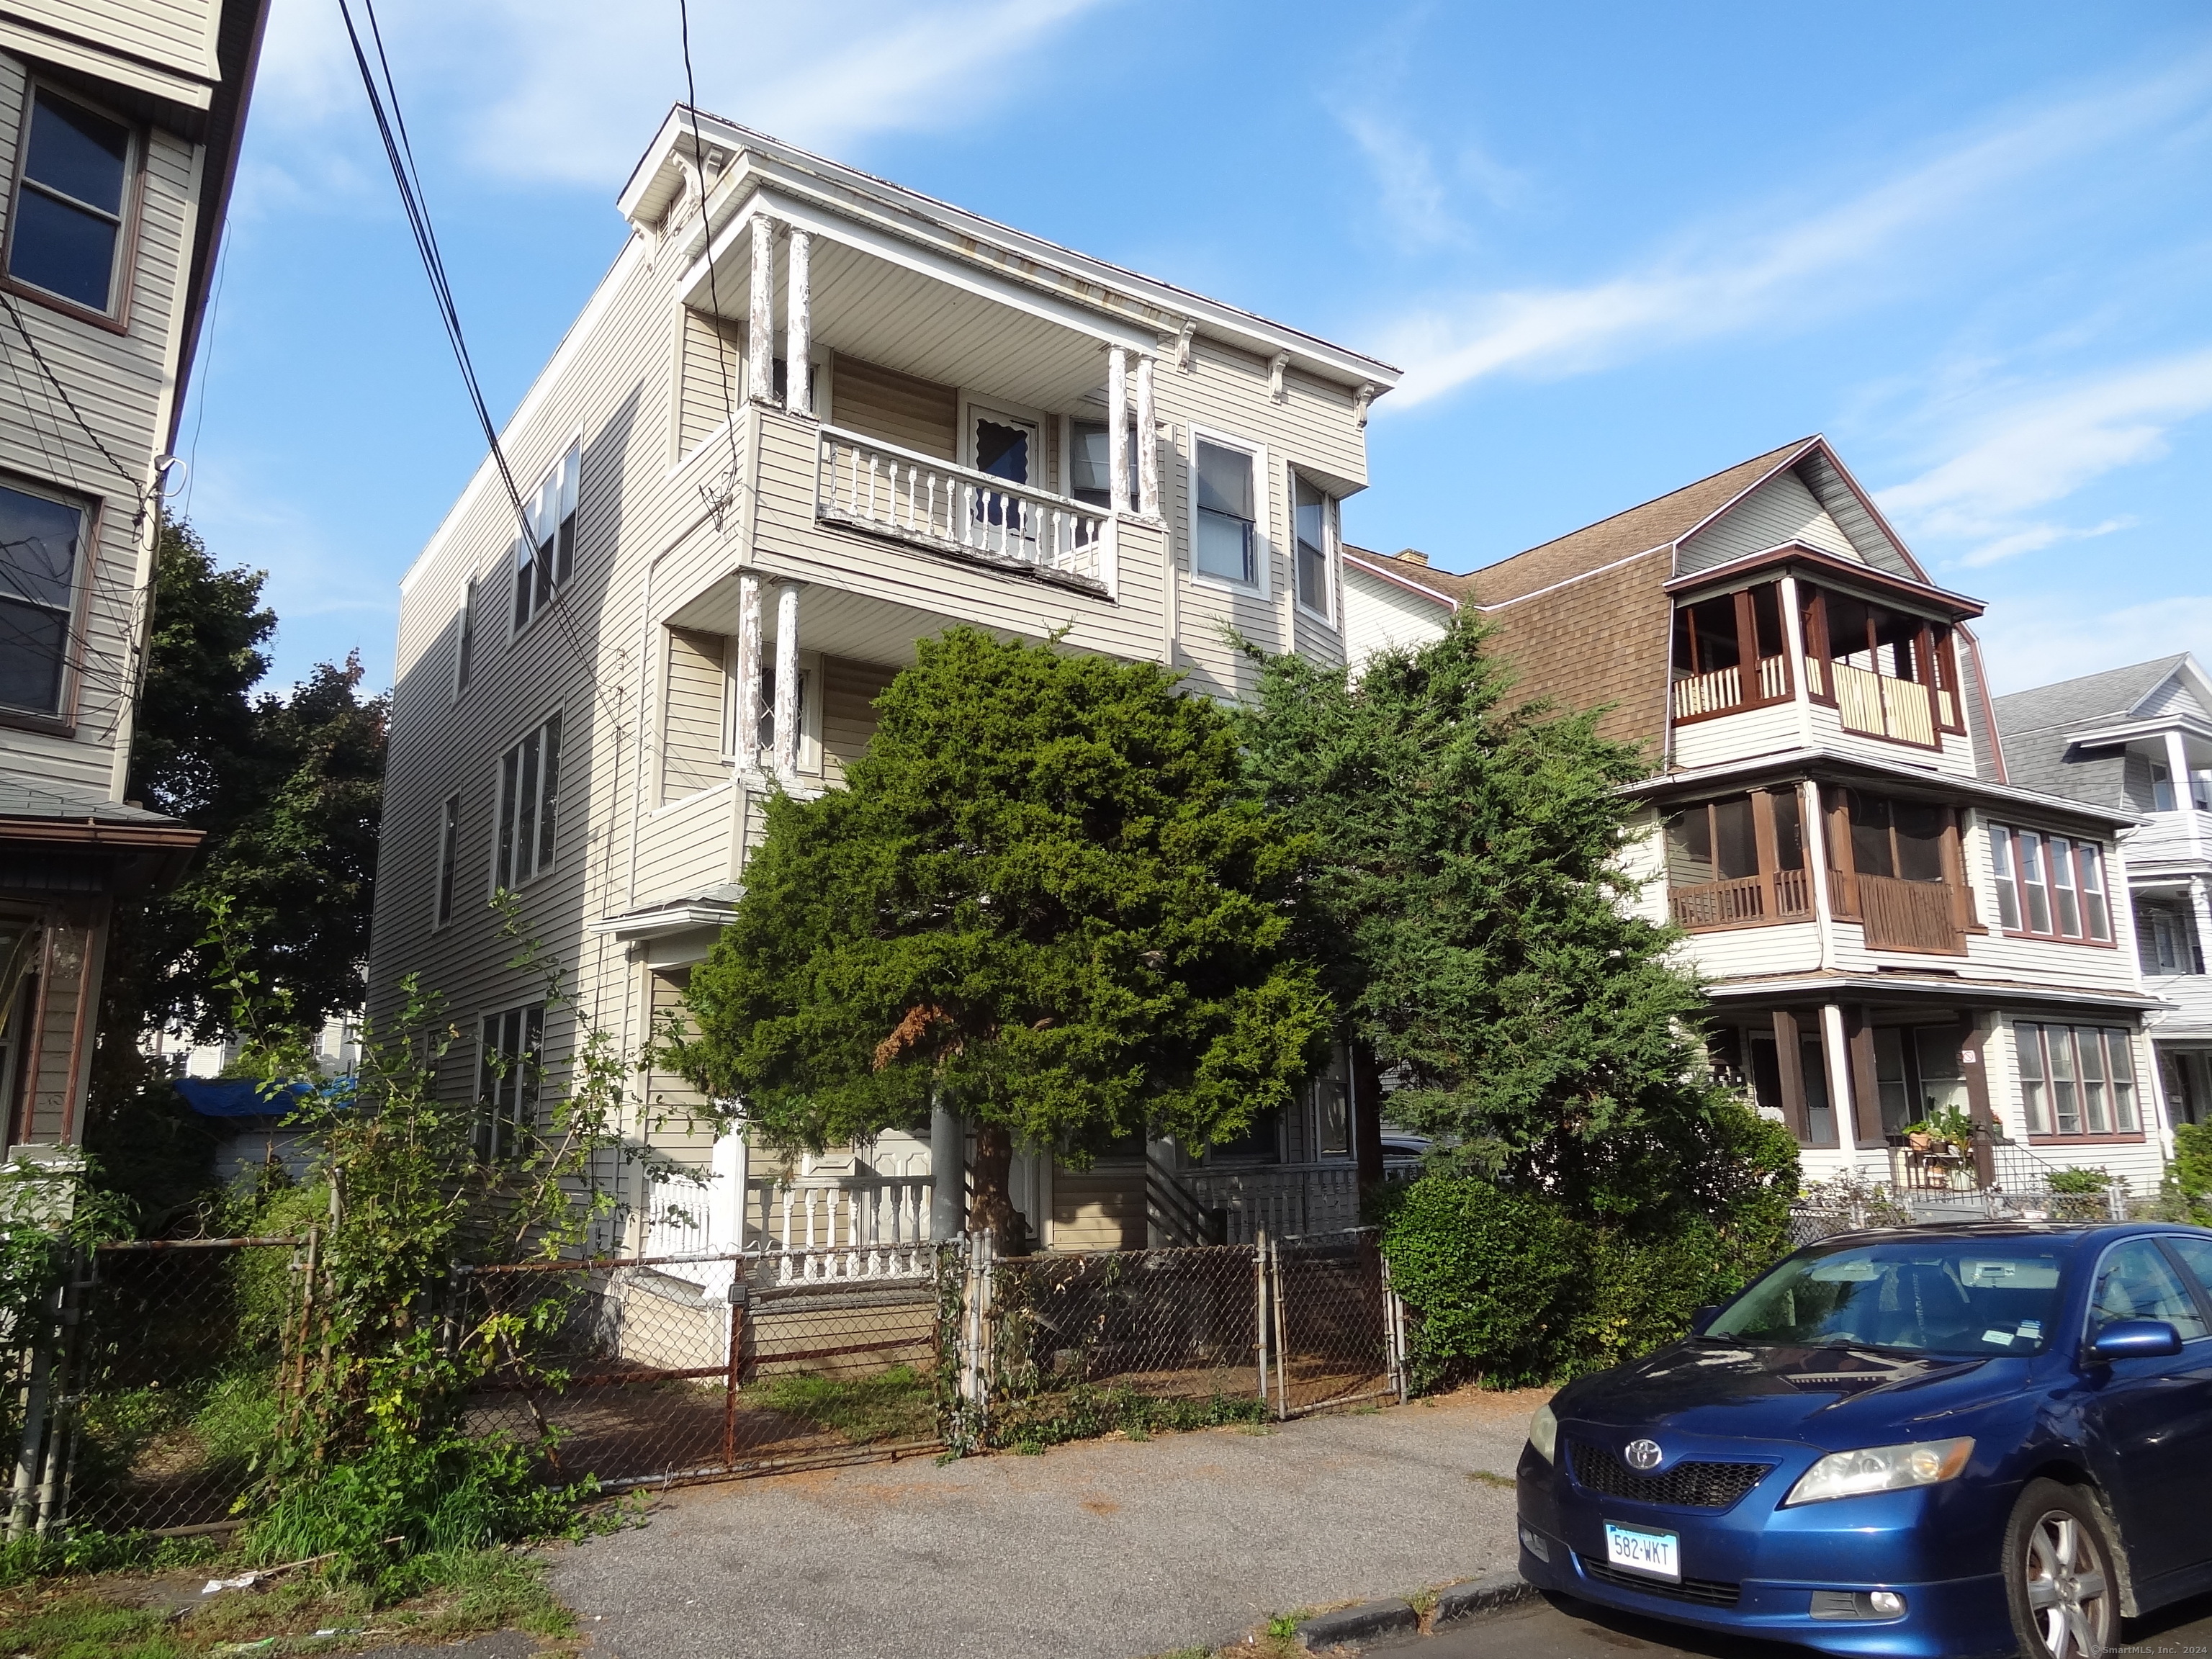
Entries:
<svg viewBox="0 0 2212 1659">
<path fill-rule="evenodd" d="M 2121 841 L 2159 1082 L 2177 1124 L 2212 1124 L 2212 675 L 2188 653 L 1997 699 L 2006 772 L 2139 814 Z"/>
</svg>

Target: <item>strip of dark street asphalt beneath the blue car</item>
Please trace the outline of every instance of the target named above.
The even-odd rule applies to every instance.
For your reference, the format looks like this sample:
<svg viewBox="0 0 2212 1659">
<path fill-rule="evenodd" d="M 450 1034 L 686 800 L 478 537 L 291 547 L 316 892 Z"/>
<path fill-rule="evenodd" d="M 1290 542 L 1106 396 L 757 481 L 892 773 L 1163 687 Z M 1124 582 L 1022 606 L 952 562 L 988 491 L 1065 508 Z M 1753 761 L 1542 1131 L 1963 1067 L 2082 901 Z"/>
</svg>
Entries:
<svg viewBox="0 0 2212 1659">
<path fill-rule="evenodd" d="M 2128 1659 L 2203 1659 L 2212 1655 L 2212 1597 L 2188 1601 L 2150 1619 L 2130 1619 L 2126 1630 Z M 1683 1626 L 1637 1619 L 1626 1613 L 1595 1608 L 1568 1597 L 1522 1601 L 1504 1613 L 1491 1613 L 1467 1624 L 1447 1626 L 1433 1637 L 1413 1637 L 1374 1646 L 1376 1659 L 1805 1659 L 1805 1648 L 1776 1641 L 1736 1641 L 1708 1637 Z"/>
</svg>

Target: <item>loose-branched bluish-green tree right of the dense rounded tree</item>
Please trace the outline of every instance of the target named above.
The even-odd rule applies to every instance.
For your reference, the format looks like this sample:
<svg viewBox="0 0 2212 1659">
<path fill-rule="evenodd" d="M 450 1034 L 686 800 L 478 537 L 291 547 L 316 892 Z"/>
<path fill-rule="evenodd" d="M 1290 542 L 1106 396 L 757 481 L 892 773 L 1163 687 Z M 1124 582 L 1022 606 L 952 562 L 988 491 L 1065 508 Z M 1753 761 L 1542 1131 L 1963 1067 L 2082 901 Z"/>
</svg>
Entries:
<svg viewBox="0 0 2212 1659">
<path fill-rule="evenodd" d="M 1462 615 L 1358 681 L 1265 659 L 1243 737 L 1261 799 L 1316 845 L 1298 942 L 1407 1079 L 1394 1119 L 1590 1219 L 1772 1208 L 1794 1146 L 1710 1082 L 1701 987 L 1624 902 L 1619 785 L 1648 768 L 1597 712 L 1509 701 Z"/>
</svg>

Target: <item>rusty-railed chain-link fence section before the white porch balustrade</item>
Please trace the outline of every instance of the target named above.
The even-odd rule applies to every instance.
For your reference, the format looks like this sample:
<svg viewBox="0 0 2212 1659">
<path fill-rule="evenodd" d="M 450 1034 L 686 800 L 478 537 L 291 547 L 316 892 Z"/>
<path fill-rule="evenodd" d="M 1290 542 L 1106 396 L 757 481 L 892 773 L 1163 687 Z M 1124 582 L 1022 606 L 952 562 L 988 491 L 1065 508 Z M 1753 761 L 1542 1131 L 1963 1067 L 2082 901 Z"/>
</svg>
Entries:
<svg viewBox="0 0 2212 1659">
<path fill-rule="evenodd" d="M 936 1451 L 938 1254 L 557 1261 L 458 1272 L 495 1336 L 469 1429 L 606 1489 Z"/>
</svg>

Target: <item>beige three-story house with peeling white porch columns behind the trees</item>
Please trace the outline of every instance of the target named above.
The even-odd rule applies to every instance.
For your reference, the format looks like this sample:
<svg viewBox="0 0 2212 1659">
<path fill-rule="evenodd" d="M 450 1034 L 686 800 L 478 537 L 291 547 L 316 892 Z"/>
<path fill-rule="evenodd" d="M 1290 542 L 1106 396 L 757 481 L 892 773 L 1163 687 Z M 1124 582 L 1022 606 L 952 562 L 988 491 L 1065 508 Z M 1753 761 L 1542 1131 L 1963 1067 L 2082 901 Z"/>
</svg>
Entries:
<svg viewBox="0 0 2212 1659">
<path fill-rule="evenodd" d="M 1345 655 L 1338 502 L 1394 372 L 730 122 L 675 111 L 630 237 L 403 582 L 372 1018 L 403 973 L 467 1031 L 442 1086 L 498 1137 L 580 1026 L 681 1004 L 763 801 L 838 787 L 872 699 L 951 624 L 1148 659 L 1232 697 Z M 526 529 L 522 526 L 526 524 Z M 573 973 L 546 1009 L 487 909 Z M 641 1113 L 697 1104 L 637 1077 Z M 1343 1225 L 1367 1104 L 1334 1079 L 1248 1144 L 1018 1164 L 1051 1248 Z M 1365 1130 L 1365 1133 L 1363 1133 Z M 619 1170 L 624 1243 L 726 1250 L 958 1225 L 947 1124 L 772 1159 L 635 1124 L 714 1181 Z M 1374 1161 L 1374 1150 L 1369 1152 Z"/>
</svg>

